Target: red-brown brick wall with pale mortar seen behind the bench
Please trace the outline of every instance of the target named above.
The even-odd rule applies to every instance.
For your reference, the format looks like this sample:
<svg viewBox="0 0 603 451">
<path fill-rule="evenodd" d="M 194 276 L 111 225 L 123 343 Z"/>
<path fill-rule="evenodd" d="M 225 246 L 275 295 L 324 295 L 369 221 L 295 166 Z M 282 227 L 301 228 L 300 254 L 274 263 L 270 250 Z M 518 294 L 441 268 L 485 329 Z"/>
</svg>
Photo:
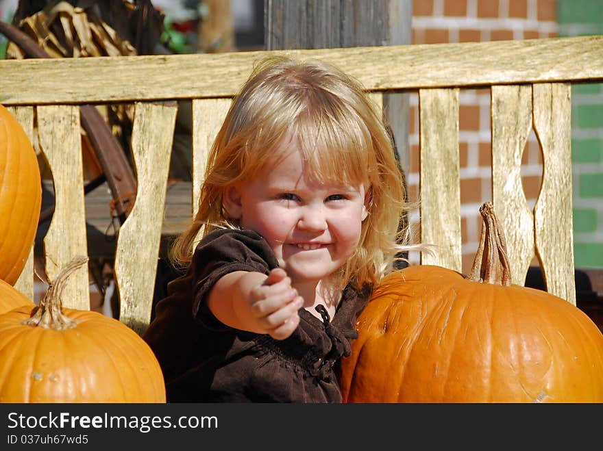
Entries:
<svg viewBox="0 0 603 451">
<path fill-rule="evenodd" d="M 574 0 L 570 0 L 574 1 Z M 534 39 L 558 36 L 555 0 L 420 0 L 413 2 L 413 44 Z M 471 268 L 478 247 L 481 218 L 478 209 L 491 201 L 491 131 L 489 90 L 461 90 L 459 151 L 463 272 Z M 418 95 L 410 94 L 411 198 L 419 184 Z M 533 207 L 539 192 L 542 155 L 534 131 L 524 151 L 524 191 Z M 418 212 L 411 222 L 418 219 Z M 411 259 L 417 259 L 411 254 Z M 534 261 L 534 264 L 537 264 Z"/>
</svg>

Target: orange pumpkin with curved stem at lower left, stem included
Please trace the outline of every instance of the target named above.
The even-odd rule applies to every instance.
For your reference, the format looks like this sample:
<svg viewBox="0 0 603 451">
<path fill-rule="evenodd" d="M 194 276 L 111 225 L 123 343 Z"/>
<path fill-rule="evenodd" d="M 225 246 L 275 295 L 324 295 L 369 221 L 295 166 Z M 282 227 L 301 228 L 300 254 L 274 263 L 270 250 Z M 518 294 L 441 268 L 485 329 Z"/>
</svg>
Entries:
<svg viewBox="0 0 603 451">
<path fill-rule="evenodd" d="M 0 315 L 0 402 L 165 402 L 159 363 L 125 324 L 62 309 L 62 270 L 40 307 Z"/>
</svg>

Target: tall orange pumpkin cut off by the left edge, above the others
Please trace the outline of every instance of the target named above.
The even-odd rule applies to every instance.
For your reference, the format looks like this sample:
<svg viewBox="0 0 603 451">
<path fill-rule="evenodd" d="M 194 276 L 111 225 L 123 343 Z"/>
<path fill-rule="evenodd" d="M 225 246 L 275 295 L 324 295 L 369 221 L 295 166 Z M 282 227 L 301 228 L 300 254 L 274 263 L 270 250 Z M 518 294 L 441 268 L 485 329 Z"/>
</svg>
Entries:
<svg viewBox="0 0 603 451">
<path fill-rule="evenodd" d="M 36 152 L 0 105 L 0 279 L 14 285 L 32 248 L 42 203 Z"/>
</svg>

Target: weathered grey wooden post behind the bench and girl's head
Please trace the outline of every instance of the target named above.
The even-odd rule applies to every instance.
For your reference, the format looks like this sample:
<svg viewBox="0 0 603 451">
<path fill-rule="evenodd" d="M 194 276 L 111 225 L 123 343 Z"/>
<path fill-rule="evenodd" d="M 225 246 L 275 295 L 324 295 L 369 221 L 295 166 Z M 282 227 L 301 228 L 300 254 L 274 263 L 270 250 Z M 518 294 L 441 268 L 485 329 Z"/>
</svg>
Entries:
<svg viewBox="0 0 603 451">
<path fill-rule="evenodd" d="M 410 44 L 412 14 L 412 0 L 264 0 L 264 41 L 267 50 Z M 408 94 L 386 94 L 383 106 L 408 174 Z"/>
</svg>

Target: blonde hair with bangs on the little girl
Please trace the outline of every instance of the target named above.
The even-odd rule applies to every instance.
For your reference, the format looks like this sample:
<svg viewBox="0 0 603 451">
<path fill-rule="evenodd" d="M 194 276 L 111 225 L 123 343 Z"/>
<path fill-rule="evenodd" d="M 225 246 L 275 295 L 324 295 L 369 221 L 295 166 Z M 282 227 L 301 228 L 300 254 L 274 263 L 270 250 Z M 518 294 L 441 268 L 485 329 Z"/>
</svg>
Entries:
<svg viewBox="0 0 603 451">
<path fill-rule="evenodd" d="M 227 186 L 254 177 L 293 131 L 304 160 L 319 181 L 370 190 L 369 216 L 360 244 L 336 285 L 377 284 L 406 246 L 402 221 L 404 176 L 381 114 L 358 81 L 317 60 L 262 60 L 234 98 L 208 157 L 199 209 L 171 247 L 171 259 L 186 266 L 196 238 L 219 227 L 237 227 L 223 208 Z"/>
</svg>

